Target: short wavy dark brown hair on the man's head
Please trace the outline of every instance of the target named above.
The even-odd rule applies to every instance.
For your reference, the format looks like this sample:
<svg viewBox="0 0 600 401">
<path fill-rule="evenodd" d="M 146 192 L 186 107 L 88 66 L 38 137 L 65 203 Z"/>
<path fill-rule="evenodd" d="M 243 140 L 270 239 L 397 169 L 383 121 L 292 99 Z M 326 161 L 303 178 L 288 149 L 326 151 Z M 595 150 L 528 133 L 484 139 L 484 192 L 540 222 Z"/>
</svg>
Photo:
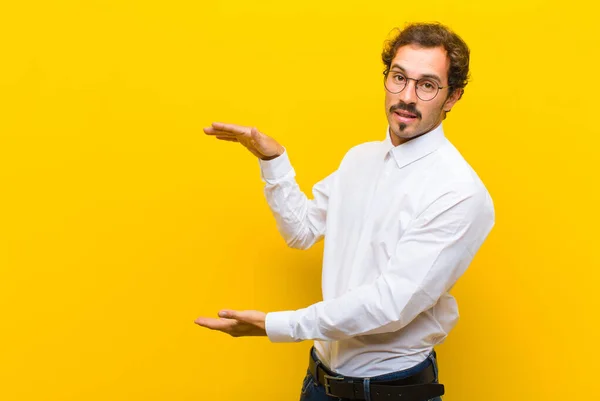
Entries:
<svg viewBox="0 0 600 401">
<path fill-rule="evenodd" d="M 402 46 L 417 45 L 424 48 L 441 46 L 450 59 L 448 71 L 448 96 L 455 90 L 462 90 L 469 80 L 469 48 L 467 44 L 448 27 L 440 23 L 411 23 L 385 42 L 381 59 L 385 65 L 384 74 L 390 70 L 396 52 Z M 462 92 L 462 91 L 461 91 Z M 462 96 L 462 93 L 461 93 Z"/>
</svg>

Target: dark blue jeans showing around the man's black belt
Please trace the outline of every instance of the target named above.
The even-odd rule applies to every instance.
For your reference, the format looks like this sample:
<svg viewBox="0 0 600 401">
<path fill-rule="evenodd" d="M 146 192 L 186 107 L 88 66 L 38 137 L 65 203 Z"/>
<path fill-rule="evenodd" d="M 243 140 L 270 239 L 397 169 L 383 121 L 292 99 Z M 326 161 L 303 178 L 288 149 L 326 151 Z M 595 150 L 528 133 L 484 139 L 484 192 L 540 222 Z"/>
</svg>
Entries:
<svg viewBox="0 0 600 401">
<path fill-rule="evenodd" d="M 315 360 L 316 360 L 317 355 L 315 354 L 314 349 L 311 348 L 310 352 L 311 352 L 311 356 L 313 358 L 315 358 Z M 371 377 L 369 379 L 369 381 L 371 383 L 375 383 L 375 382 L 383 381 L 383 380 L 403 379 L 403 378 L 413 375 L 417 372 L 420 372 L 421 370 L 425 369 L 426 367 L 428 367 L 431 364 L 433 364 L 433 367 L 434 367 L 433 371 L 435 372 L 435 380 L 434 381 L 437 383 L 438 370 L 437 370 L 437 359 L 436 359 L 435 351 L 433 351 L 431 354 L 429 354 L 427 359 L 425 359 L 423 362 L 421 362 L 411 368 L 399 370 L 397 372 L 386 373 L 386 374 L 380 375 L 380 376 L 374 376 L 374 377 Z M 352 378 L 348 378 L 347 380 L 348 381 L 352 380 Z M 441 400 L 442 400 L 441 397 L 436 397 L 436 398 L 432 398 L 429 401 L 441 401 Z M 323 387 L 322 384 L 318 384 L 315 381 L 315 378 L 312 376 L 312 374 L 307 369 L 306 376 L 304 377 L 304 381 L 302 382 L 300 401 L 346 401 L 346 399 L 338 398 L 338 397 L 331 397 L 331 396 L 325 394 L 325 387 Z"/>
</svg>

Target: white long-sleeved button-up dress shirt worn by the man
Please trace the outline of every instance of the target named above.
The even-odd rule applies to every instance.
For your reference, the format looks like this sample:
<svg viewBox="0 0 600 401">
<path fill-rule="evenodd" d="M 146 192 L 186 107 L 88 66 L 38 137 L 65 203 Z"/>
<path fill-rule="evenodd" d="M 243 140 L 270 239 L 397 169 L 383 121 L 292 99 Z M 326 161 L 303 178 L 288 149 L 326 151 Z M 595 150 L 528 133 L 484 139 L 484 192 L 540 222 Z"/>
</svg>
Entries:
<svg viewBox="0 0 600 401">
<path fill-rule="evenodd" d="M 259 164 L 286 243 L 325 238 L 323 301 L 268 313 L 269 339 L 315 340 L 321 360 L 348 376 L 423 361 L 456 324 L 448 292 L 494 225 L 488 191 L 442 125 L 396 147 L 388 128 L 385 140 L 350 149 L 313 199 L 287 151 Z"/>
</svg>

